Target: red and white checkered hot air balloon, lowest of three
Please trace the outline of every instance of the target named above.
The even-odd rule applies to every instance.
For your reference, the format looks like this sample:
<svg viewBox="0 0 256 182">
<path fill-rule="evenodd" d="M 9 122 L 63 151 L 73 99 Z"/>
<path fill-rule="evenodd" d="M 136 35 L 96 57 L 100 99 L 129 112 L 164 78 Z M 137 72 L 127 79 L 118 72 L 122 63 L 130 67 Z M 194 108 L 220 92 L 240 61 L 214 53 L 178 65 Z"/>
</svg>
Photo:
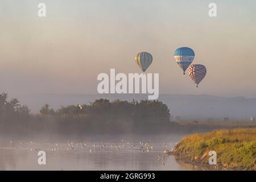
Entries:
<svg viewBox="0 0 256 182">
<path fill-rule="evenodd" d="M 202 64 L 192 64 L 188 68 L 188 74 L 192 78 L 193 82 L 196 83 L 196 87 L 198 87 L 199 83 L 203 80 L 207 73 L 207 69 Z"/>
</svg>

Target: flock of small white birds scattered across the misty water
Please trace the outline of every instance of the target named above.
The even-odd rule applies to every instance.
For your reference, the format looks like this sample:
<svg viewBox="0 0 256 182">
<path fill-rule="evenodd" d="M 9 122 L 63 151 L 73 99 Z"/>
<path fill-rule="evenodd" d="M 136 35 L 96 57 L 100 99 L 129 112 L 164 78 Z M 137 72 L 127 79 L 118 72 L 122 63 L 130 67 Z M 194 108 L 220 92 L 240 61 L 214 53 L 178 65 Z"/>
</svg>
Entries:
<svg viewBox="0 0 256 182">
<path fill-rule="evenodd" d="M 29 142 L 29 143 L 23 143 L 20 142 L 19 144 L 14 144 L 13 141 L 10 142 L 11 147 L 14 149 L 22 148 L 22 146 L 27 145 L 27 146 L 35 146 L 34 142 Z M 176 142 L 177 144 L 177 142 Z M 114 151 L 120 151 L 120 150 L 134 150 L 135 152 L 142 152 L 142 153 L 149 153 L 151 151 L 158 152 L 159 147 L 162 149 L 166 149 L 162 151 L 162 155 L 157 155 L 157 161 L 158 163 L 162 163 L 164 165 L 164 159 L 166 156 L 170 155 L 171 152 L 174 150 L 174 148 L 171 148 L 172 144 L 171 143 L 162 143 L 162 144 L 154 144 L 150 142 L 138 142 L 138 143 L 130 143 L 125 140 L 122 140 L 122 142 L 100 142 L 100 143 L 86 143 L 86 142 L 70 142 L 67 141 L 67 143 L 55 143 L 55 144 L 49 144 L 48 150 L 51 151 L 57 151 L 57 150 L 84 150 L 89 152 L 90 154 L 94 154 L 94 152 L 98 150 L 103 150 L 104 148 L 108 148 Z M 157 150 L 154 150 L 157 148 Z M 168 148 L 171 148 L 171 150 L 168 150 Z M 31 151 L 40 151 L 42 150 L 41 148 L 31 148 Z M 160 151 L 159 151 L 160 152 Z"/>
</svg>

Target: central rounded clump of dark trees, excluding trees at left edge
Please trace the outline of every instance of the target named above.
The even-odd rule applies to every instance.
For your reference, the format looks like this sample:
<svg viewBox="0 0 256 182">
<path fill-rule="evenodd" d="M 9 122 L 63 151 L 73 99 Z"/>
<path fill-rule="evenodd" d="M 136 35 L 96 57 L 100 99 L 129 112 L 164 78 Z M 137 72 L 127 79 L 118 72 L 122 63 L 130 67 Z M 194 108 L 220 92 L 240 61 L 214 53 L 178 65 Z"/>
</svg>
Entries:
<svg viewBox="0 0 256 182">
<path fill-rule="evenodd" d="M 90 104 L 61 106 L 53 110 L 48 104 L 40 110 L 40 115 L 77 118 L 93 117 L 94 119 L 132 119 L 141 122 L 168 122 L 170 110 L 167 105 L 160 101 L 121 101 L 110 102 L 106 99 L 99 99 Z"/>
</svg>

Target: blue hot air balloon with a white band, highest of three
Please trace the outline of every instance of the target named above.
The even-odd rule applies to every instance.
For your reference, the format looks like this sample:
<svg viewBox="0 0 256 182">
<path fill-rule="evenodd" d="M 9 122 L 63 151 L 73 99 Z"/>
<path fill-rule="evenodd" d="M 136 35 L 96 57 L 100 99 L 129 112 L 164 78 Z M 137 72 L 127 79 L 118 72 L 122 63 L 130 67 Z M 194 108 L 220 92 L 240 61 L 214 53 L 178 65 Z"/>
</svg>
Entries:
<svg viewBox="0 0 256 182">
<path fill-rule="evenodd" d="M 179 64 L 180 68 L 183 69 L 185 75 L 186 69 L 192 63 L 195 57 L 195 52 L 188 47 L 180 47 L 174 52 L 176 63 Z"/>
</svg>

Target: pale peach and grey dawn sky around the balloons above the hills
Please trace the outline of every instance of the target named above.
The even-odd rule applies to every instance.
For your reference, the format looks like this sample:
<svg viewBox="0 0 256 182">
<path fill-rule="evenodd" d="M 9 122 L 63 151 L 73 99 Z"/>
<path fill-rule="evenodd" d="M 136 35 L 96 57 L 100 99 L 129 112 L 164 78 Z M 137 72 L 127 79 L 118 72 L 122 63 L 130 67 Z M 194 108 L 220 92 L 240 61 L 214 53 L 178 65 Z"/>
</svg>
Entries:
<svg viewBox="0 0 256 182">
<path fill-rule="evenodd" d="M 210 2 L 217 18 L 208 16 Z M 134 56 L 147 51 L 160 93 L 256 97 L 255 7 L 255 0 L 1 0 L 0 92 L 94 94 L 99 73 L 141 72 Z M 193 63 L 207 67 L 199 88 L 174 61 L 179 47 L 193 48 Z"/>
</svg>

